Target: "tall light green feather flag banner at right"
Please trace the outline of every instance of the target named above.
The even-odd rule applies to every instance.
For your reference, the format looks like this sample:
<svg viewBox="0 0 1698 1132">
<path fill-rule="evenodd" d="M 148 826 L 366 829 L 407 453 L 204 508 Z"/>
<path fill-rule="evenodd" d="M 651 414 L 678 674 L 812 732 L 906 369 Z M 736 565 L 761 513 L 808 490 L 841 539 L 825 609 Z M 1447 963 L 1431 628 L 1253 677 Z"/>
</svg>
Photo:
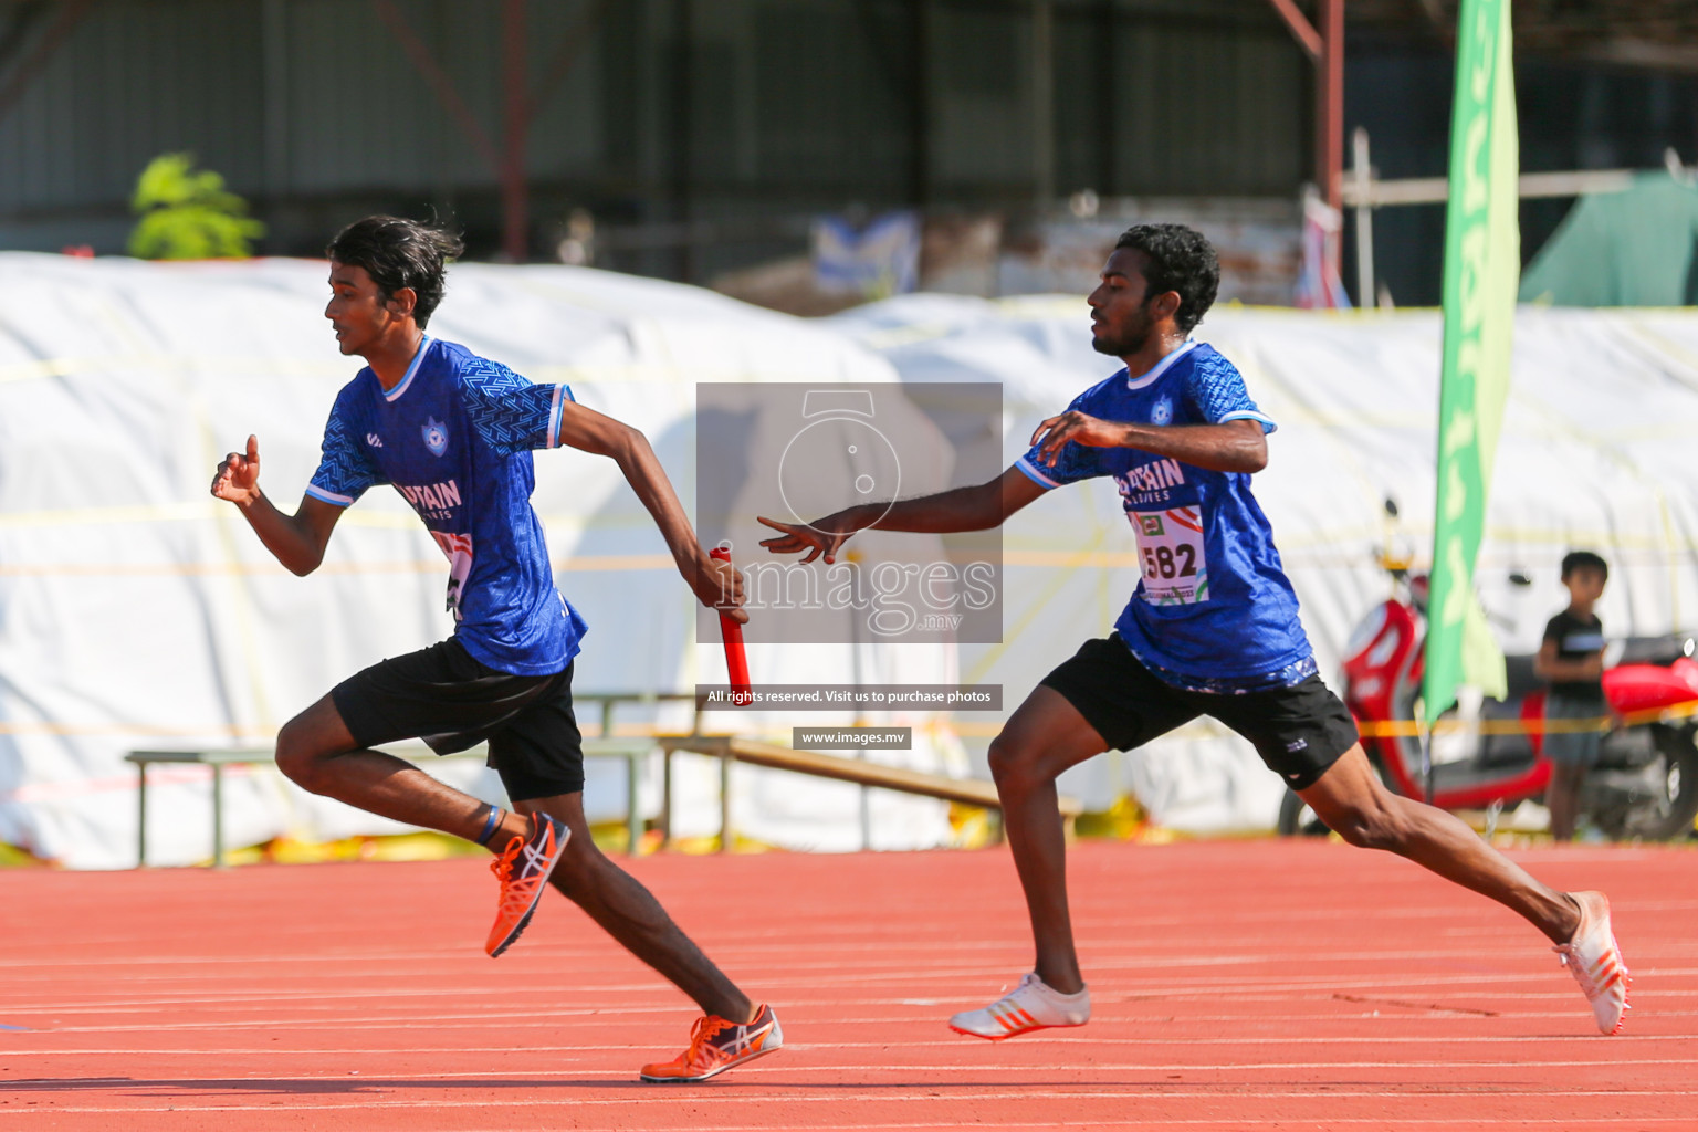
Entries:
<svg viewBox="0 0 1698 1132">
<path fill-rule="evenodd" d="M 1474 592 L 1474 562 L 1510 392 L 1521 272 L 1518 149 L 1510 0 L 1462 0 L 1445 209 L 1438 499 L 1421 689 L 1428 723 L 1457 701 L 1460 684 L 1499 698 L 1506 686 L 1503 652 Z"/>
</svg>

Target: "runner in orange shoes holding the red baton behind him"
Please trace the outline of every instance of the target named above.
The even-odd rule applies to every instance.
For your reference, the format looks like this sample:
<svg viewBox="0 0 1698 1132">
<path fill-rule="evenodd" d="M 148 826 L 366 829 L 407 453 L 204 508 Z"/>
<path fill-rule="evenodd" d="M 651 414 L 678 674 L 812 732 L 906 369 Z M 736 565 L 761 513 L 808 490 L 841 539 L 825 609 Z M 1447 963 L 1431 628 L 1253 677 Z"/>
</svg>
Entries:
<svg viewBox="0 0 1698 1132">
<path fill-rule="evenodd" d="M 773 1010 L 751 1003 L 589 835 L 572 713 L 584 619 L 554 586 L 530 502 L 531 451 L 611 457 L 696 596 L 747 621 L 742 579 L 696 543 L 642 433 L 579 406 L 565 385 L 533 385 L 424 334 L 458 241 L 377 216 L 343 229 L 328 255 L 324 316 L 341 353 L 367 367 L 336 397 L 319 468 L 299 509 L 284 514 L 260 490 L 260 441 L 250 436 L 245 453 L 219 463 L 212 494 L 236 504 L 278 562 L 304 575 L 323 562 L 346 507 L 372 487 L 394 487 L 448 560 L 453 635 L 338 684 L 284 726 L 277 765 L 316 794 L 496 850 L 491 955 L 520 937 L 552 884 L 689 995 L 706 1017 L 678 1059 L 645 1066 L 642 1079 L 703 1081 L 779 1049 Z M 404 738 L 438 754 L 487 743 L 513 813 L 372 750 Z"/>
</svg>

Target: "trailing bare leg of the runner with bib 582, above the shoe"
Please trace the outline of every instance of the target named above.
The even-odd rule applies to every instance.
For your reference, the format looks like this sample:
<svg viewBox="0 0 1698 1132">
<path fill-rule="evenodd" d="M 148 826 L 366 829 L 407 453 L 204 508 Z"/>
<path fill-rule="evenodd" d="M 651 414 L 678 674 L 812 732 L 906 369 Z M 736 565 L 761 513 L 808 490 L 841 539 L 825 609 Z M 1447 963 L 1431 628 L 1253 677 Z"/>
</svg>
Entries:
<svg viewBox="0 0 1698 1132">
<path fill-rule="evenodd" d="M 1552 944 L 1574 939 L 1581 913 L 1567 894 L 1540 884 L 1455 815 L 1392 794 L 1352 747 L 1314 786 L 1297 791 L 1314 815 L 1352 845 L 1384 849 L 1518 911 Z"/>
</svg>

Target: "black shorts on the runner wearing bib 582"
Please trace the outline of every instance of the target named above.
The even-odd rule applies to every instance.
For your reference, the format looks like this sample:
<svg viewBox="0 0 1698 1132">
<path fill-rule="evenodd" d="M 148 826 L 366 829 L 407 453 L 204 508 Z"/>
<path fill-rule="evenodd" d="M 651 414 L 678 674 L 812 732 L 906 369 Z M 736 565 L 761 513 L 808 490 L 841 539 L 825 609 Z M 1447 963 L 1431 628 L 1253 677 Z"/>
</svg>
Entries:
<svg viewBox="0 0 1698 1132">
<path fill-rule="evenodd" d="M 1066 696 L 1119 750 L 1143 747 L 1197 716 L 1214 716 L 1248 738 L 1262 762 L 1299 791 L 1321 781 L 1357 742 L 1355 720 L 1318 675 L 1268 692 L 1187 692 L 1141 665 L 1119 635 L 1085 642 L 1043 684 Z"/>
</svg>

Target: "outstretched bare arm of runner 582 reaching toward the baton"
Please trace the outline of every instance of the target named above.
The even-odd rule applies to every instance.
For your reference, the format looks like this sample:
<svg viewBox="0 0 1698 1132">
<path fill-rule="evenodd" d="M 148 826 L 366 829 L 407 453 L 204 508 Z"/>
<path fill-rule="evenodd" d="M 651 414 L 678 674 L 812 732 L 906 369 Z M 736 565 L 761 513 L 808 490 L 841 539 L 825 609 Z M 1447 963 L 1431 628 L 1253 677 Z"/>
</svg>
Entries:
<svg viewBox="0 0 1698 1132">
<path fill-rule="evenodd" d="M 778 538 L 767 538 L 761 545 L 774 555 L 801 553 L 803 562 L 813 562 L 825 555 L 825 562 L 837 562 L 837 552 L 856 531 L 878 528 L 881 531 L 922 531 L 946 535 L 949 531 L 988 531 L 1002 526 L 1010 514 L 1037 499 L 1044 489 L 1032 482 L 1019 468 L 1009 468 L 988 484 L 976 487 L 953 487 L 936 496 L 919 499 L 898 499 L 893 504 L 859 504 L 844 507 L 835 514 L 813 523 L 779 523 L 757 516 L 774 531 Z"/>
</svg>

